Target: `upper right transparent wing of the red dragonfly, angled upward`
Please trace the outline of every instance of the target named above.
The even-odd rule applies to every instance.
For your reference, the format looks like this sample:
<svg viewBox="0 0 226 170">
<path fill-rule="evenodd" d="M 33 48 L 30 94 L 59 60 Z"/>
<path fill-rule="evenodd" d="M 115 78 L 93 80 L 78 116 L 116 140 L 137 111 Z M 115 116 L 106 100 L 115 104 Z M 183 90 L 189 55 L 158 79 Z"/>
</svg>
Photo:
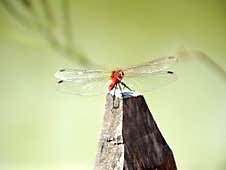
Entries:
<svg viewBox="0 0 226 170">
<path fill-rule="evenodd" d="M 149 61 L 145 64 L 125 68 L 123 71 L 125 73 L 125 77 L 139 76 L 141 74 L 152 74 L 167 70 L 171 65 L 176 62 L 177 58 L 174 56 L 163 57 L 160 59 Z"/>
</svg>

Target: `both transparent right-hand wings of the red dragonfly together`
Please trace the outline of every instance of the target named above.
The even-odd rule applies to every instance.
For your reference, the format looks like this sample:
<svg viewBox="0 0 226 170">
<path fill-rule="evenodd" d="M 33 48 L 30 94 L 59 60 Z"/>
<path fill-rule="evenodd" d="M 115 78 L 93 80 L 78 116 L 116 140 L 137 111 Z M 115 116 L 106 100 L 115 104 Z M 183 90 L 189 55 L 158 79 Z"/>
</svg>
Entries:
<svg viewBox="0 0 226 170">
<path fill-rule="evenodd" d="M 128 67 L 124 70 L 123 81 L 136 91 L 151 92 L 177 79 L 174 72 L 168 70 L 176 62 L 176 57 L 169 56 Z"/>
</svg>

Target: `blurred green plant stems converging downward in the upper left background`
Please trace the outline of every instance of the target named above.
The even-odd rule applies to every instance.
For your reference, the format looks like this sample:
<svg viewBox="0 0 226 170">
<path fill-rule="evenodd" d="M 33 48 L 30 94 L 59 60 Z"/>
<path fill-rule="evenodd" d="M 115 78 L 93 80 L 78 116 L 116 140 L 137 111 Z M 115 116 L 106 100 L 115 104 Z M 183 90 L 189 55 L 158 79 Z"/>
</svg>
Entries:
<svg viewBox="0 0 226 170">
<path fill-rule="evenodd" d="M 57 52 L 63 52 L 65 56 L 81 65 L 92 65 L 88 58 L 74 46 L 69 0 L 61 0 L 63 24 L 60 24 L 59 18 L 56 17 L 48 0 L 38 1 L 44 22 L 41 21 L 42 19 L 35 11 L 34 1 L 32 0 L 0 0 L 0 3 L 19 24 L 26 29 L 41 33 L 43 38 L 47 39 L 50 46 Z M 18 4 L 20 7 L 18 7 Z"/>
</svg>

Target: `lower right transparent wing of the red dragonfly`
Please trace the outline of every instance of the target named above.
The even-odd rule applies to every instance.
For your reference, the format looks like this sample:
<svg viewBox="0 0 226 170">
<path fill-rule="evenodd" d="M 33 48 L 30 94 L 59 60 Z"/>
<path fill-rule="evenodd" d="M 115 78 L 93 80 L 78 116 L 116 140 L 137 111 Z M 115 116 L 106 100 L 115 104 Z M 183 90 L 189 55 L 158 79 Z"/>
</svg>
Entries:
<svg viewBox="0 0 226 170">
<path fill-rule="evenodd" d="M 123 81 L 132 90 L 137 92 L 151 92 L 162 86 L 166 86 L 177 79 L 173 72 L 159 71 L 152 74 L 139 74 L 139 76 L 124 77 Z"/>
</svg>

